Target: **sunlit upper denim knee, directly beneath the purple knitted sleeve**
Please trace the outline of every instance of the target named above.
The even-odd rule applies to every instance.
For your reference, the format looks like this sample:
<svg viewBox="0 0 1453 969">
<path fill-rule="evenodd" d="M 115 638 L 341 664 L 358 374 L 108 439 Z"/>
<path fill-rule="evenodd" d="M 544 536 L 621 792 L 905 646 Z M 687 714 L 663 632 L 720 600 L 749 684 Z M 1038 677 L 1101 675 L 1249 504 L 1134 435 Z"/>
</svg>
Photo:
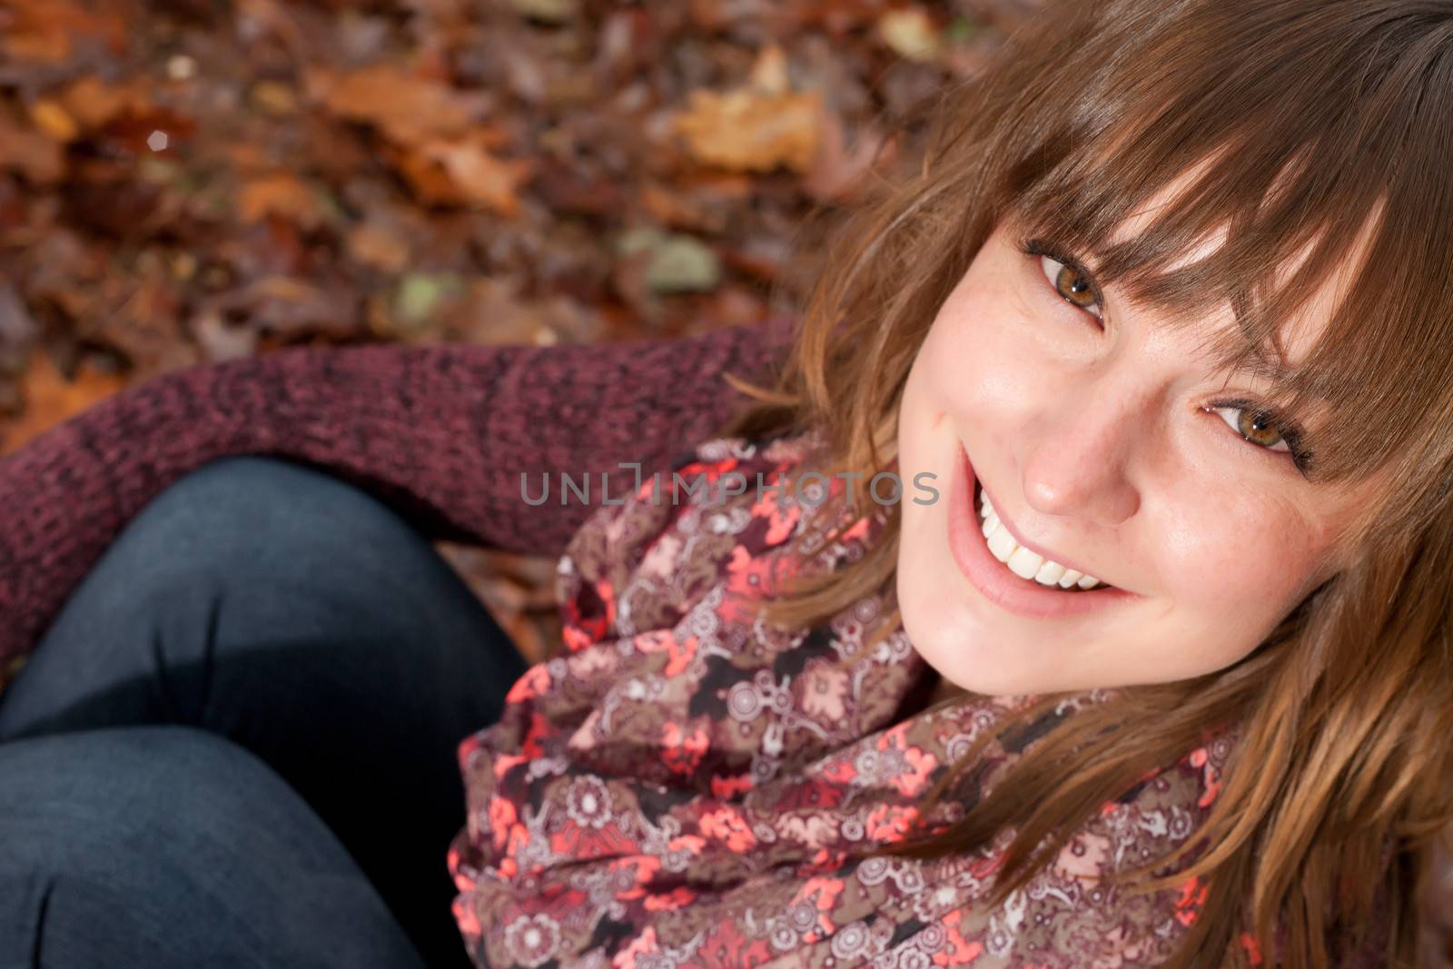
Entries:
<svg viewBox="0 0 1453 969">
<path fill-rule="evenodd" d="M 60 664 L 67 677 L 93 680 L 87 690 L 158 664 L 186 670 L 186 689 L 160 681 L 174 709 L 166 719 L 199 722 L 205 683 L 192 689 L 193 673 L 209 676 L 214 651 L 298 648 L 325 649 L 339 664 L 413 654 L 416 676 L 446 693 L 464 678 L 485 693 L 503 681 L 503 694 L 525 671 L 478 599 L 391 507 L 323 471 L 263 456 L 202 465 L 144 507 L 83 578 L 31 667 Z M 29 697 L 4 706 L 16 705 L 35 706 Z M 6 713 L 12 723 L 19 716 Z"/>
</svg>

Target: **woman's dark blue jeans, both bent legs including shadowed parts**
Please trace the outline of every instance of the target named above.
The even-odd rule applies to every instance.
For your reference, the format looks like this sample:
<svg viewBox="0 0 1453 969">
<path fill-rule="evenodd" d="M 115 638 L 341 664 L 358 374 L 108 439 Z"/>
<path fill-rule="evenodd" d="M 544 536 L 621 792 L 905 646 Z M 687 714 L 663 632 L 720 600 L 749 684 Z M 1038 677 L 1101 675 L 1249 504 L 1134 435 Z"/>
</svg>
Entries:
<svg viewBox="0 0 1453 969">
<path fill-rule="evenodd" d="M 466 966 L 455 748 L 525 670 L 388 506 L 203 465 L 0 694 L 0 966 Z"/>
</svg>

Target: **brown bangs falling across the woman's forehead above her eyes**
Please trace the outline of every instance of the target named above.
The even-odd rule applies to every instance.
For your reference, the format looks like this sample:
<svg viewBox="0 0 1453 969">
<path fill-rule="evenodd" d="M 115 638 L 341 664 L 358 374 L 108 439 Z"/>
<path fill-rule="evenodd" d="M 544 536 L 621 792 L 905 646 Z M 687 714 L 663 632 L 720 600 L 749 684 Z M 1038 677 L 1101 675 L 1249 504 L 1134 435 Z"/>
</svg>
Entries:
<svg viewBox="0 0 1453 969">
<path fill-rule="evenodd" d="M 1133 81 L 1117 70 L 1125 35 L 1090 32 L 1071 54 L 1080 62 L 1029 86 L 1017 129 L 997 139 L 1011 150 L 1001 212 L 1081 254 L 1101 286 L 1165 325 L 1202 327 L 1213 372 L 1245 375 L 1303 430 L 1316 481 L 1364 477 L 1409 446 L 1425 468 L 1450 459 L 1437 430 L 1453 418 L 1453 341 L 1441 336 L 1453 269 L 1428 260 L 1428 243 L 1453 244 L 1453 123 L 1425 92 L 1453 81 L 1453 65 L 1433 54 L 1428 67 L 1427 38 L 1348 42 L 1357 31 L 1343 20 L 1361 7 L 1309 6 L 1302 20 L 1283 10 L 1277 23 L 1238 7 L 1225 29 L 1194 33 L 1162 23 L 1149 42 L 1165 45 L 1165 70 Z M 1287 45 L 1287 31 L 1305 36 Z M 1067 90 L 1065 77 L 1084 81 Z M 1226 305 L 1234 327 L 1205 325 Z M 1289 324 L 1315 333 L 1295 354 Z"/>
</svg>

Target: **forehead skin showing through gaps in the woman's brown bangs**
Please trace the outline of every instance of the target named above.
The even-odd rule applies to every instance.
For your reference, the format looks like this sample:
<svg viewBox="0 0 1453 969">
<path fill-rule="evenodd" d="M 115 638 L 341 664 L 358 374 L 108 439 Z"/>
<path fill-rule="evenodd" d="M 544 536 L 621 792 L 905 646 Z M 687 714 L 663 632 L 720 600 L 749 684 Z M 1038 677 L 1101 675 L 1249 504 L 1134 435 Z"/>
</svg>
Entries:
<svg viewBox="0 0 1453 969">
<path fill-rule="evenodd" d="M 1135 209 L 1130 215 L 1122 221 L 1116 230 L 1110 234 L 1107 246 L 1114 246 L 1126 240 L 1135 238 L 1145 228 L 1152 225 L 1157 216 L 1174 203 L 1183 192 L 1194 187 L 1200 174 L 1209 164 L 1207 161 L 1197 163 L 1187 171 L 1175 176 L 1171 182 L 1155 192 L 1151 199 Z M 1273 192 L 1276 186 L 1273 186 Z M 1311 298 L 1308 298 L 1283 324 L 1277 333 L 1277 356 L 1289 368 L 1296 368 L 1306 354 L 1316 344 L 1316 341 L 1327 331 L 1327 327 L 1335 312 L 1337 307 L 1347 296 L 1351 279 L 1354 277 L 1356 267 L 1361 264 L 1367 254 L 1367 247 L 1370 246 L 1376 221 L 1380 206 L 1373 212 L 1373 218 L 1361 227 L 1356 243 L 1353 244 L 1351 254 L 1335 267 L 1322 280 L 1318 289 Z M 1194 264 L 1205 260 L 1222 246 L 1225 246 L 1228 238 L 1228 225 L 1222 222 L 1209 235 L 1197 240 L 1186 253 L 1173 260 L 1165 272 L 1173 272 L 1184 266 Z M 1305 243 L 1290 259 L 1280 263 L 1271 273 L 1271 286 L 1280 288 L 1290 279 L 1298 270 L 1300 270 L 1306 260 L 1312 256 L 1316 240 L 1312 238 Z M 1231 301 L 1222 299 L 1215 312 L 1206 320 L 1207 325 L 1213 328 L 1234 328 L 1237 327 L 1237 314 Z"/>
</svg>

